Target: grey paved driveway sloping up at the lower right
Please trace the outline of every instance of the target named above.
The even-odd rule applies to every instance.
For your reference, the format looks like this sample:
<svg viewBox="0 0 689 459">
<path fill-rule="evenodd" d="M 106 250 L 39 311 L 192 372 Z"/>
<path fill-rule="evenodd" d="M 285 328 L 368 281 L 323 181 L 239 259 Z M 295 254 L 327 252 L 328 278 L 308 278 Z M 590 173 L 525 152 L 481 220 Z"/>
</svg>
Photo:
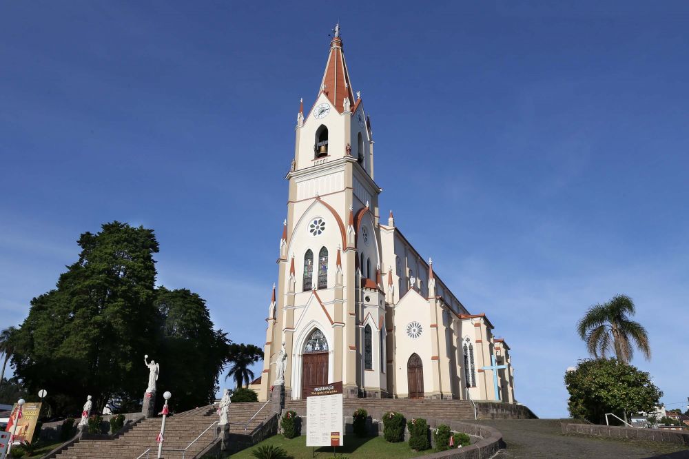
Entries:
<svg viewBox="0 0 689 459">
<path fill-rule="evenodd" d="M 689 449 L 659 442 L 619 441 L 591 436 L 563 435 L 557 419 L 479 420 L 502 432 L 507 449 L 497 459 L 625 458 L 683 459 Z"/>
</svg>

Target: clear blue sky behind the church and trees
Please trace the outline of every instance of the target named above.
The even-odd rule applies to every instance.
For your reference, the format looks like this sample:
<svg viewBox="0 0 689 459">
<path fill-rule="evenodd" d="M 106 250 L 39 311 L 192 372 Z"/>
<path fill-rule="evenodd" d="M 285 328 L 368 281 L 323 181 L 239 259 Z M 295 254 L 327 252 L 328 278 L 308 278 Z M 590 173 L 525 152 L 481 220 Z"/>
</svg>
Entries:
<svg viewBox="0 0 689 459">
<path fill-rule="evenodd" d="M 557 3 L 3 2 L 0 326 L 119 220 L 156 231 L 158 283 L 263 345 L 339 19 L 381 207 L 511 345 L 517 399 L 566 416 L 575 323 L 624 293 L 653 351 L 633 363 L 686 407 L 689 3 Z"/>
</svg>

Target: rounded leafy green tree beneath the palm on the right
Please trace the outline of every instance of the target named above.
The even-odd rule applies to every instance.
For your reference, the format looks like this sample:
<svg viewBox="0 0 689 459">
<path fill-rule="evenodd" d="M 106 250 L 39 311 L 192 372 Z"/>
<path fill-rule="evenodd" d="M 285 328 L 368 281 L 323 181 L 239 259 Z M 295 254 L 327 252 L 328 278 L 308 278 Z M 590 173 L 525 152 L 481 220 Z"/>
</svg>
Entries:
<svg viewBox="0 0 689 459">
<path fill-rule="evenodd" d="M 648 373 L 614 358 L 579 360 L 576 371 L 566 372 L 564 382 L 572 417 L 594 424 L 603 423 L 606 413 L 622 418 L 624 411 L 653 411 L 663 396 Z"/>
</svg>

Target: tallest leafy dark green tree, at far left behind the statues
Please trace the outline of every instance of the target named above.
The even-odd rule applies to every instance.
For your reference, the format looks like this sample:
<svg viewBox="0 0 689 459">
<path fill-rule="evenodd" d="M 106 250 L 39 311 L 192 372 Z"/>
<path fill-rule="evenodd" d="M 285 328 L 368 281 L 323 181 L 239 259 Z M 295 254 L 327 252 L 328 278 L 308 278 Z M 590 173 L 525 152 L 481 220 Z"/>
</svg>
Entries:
<svg viewBox="0 0 689 459">
<path fill-rule="evenodd" d="M 79 260 L 56 289 L 31 301 L 13 358 L 30 391 L 55 394 L 58 412 L 76 413 L 89 394 L 96 407 L 139 398 L 141 354 L 156 334 L 153 230 L 114 221 L 78 243 Z"/>
</svg>

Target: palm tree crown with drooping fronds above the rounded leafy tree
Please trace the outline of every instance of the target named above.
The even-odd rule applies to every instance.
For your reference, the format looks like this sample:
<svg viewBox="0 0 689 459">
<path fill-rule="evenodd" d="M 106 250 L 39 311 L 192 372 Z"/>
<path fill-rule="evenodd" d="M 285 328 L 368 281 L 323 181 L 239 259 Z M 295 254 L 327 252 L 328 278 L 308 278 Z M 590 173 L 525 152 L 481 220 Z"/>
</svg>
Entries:
<svg viewBox="0 0 689 459">
<path fill-rule="evenodd" d="M 605 358 L 615 351 L 619 362 L 629 363 L 634 355 L 634 342 L 646 360 L 650 360 L 648 334 L 640 323 L 630 320 L 629 316 L 634 314 L 632 298 L 626 295 L 616 295 L 604 305 L 591 306 L 577 325 L 589 354 Z"/>
</svg>

